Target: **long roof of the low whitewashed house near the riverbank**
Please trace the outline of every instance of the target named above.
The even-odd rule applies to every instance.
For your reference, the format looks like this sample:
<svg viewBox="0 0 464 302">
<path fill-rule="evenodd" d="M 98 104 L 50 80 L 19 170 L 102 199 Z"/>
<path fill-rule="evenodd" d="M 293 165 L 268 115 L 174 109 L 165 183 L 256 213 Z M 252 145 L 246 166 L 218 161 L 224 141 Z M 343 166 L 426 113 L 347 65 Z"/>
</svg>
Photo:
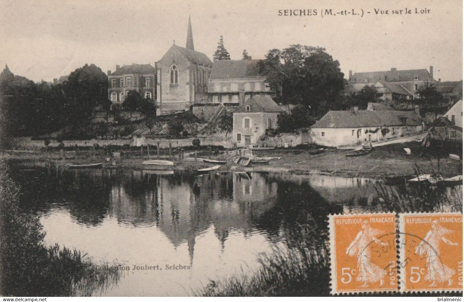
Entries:
<svg viewBox="0 0 464 302">
<path fill-rule="evenodd" d="M 329 111 L 311 128 L 361 128 L 387 126 L 414 126 L 423 122 L 414 111 Z"/>
</svg>

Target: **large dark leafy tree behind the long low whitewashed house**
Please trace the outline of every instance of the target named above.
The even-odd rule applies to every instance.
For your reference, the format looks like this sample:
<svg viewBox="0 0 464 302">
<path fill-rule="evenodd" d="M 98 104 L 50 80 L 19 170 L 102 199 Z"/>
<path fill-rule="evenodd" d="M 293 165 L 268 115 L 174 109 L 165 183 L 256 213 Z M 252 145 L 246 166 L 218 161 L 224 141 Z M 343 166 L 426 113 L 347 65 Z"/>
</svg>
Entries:
<svg viewBox="0 0 464 302">
<path fill-rule="evenodd" d="M 320 104 L 334 102 L 345 87 L 340 64 L 322 47 L 273 49 L 259 69 L 271 89 L 281 92 L 278 101 L 309 106 L 313 114 Z"/>
</svg>

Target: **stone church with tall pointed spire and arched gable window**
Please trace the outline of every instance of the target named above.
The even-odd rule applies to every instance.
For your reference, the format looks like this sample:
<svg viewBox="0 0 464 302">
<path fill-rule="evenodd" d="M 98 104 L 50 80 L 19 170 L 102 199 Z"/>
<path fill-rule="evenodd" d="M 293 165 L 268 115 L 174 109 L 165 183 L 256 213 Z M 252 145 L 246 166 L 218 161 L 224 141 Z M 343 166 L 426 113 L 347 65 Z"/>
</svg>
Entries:
<svg viewBox="0 0 464 302">
<path fill-rule="evenodd" d="M 187 43 L 175 45 L 157 63 L 156 103 L 159 114 L 187 111 L 207 99 L 207 85 L 213 62 L 193 47 L 192 24 L 188 18 Z"/>
</svg>

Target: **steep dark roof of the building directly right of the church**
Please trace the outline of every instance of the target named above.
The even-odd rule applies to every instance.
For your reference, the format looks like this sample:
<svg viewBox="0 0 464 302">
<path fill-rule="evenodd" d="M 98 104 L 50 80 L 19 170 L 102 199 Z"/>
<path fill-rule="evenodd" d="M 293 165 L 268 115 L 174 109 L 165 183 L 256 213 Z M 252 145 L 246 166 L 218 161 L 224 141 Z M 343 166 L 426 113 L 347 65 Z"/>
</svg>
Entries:
<svg viewBox="0 0 464 302">
<path fill-rule="evenodd" d="M 259 74 L 258 63 L 261 60 L 215 61 L 210 80 L 265 78 Z"/>
</svg>

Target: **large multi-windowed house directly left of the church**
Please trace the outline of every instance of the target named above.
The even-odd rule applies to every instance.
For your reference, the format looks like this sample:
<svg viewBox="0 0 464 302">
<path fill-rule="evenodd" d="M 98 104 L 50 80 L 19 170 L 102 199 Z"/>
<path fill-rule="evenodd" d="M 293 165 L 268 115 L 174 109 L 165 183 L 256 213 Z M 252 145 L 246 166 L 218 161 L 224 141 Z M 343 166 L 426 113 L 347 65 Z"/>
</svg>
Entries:
<svg viewBox="0 0 464 302">
<path fill-rule="evenodd" d="M 122 104 L 130 90 L 143 98 L 156 99 L 156 68 L 150 64 L 132 64 L 108 71 L 108 97 L 114 104 Z"/>
</svg>

